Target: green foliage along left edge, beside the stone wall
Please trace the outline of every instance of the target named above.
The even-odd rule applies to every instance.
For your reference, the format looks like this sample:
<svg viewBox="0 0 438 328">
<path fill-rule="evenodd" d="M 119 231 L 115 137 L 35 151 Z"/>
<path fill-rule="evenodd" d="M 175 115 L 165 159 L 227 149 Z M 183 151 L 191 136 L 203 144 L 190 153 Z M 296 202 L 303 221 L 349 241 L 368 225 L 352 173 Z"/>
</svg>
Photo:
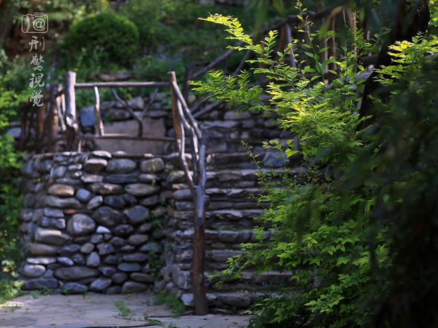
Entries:
<svg viewBox="0 0 438 328">
<path fill-rule="evenodd" d="M 19 66 L 5 63 L 0 53 L 0 300 L 16 297 L 21 283 L 14 281 L 18 275 L 14 272 L 20 259 L 18 219 L 21 209 L 21 193 L 18 189 L 20 179 L 18 169 L 21 154 L 14 149 L 14 138 L 6 133 L 10 118 L 16 115 L 16 108 L 29 99 L 27 81 L 18 85 Z M 16 85 L 17 84 L 17 85 Z M 12 280 L 10 280 L 12 278 Z"/>
</svg>

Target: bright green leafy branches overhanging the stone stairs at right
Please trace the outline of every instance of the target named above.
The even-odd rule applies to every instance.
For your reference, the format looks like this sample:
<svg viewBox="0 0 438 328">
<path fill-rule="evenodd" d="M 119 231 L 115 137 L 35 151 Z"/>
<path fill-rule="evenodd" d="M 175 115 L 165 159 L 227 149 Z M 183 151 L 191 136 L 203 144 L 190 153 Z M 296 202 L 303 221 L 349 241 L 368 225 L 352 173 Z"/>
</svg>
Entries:
<svg viewBox="0 0 438 328">
<path fill-rule="evenodd" d="M 300 19 L 298 29 L 305 31 L 310 25 Z M 432 143 L 438 135 L 432 126 L 438 114 L 432 108 L 438 102 L 436 92 L 431 96 L 434 84 L 425 79 L 429 71 L 424 69 L 428 61 L 436 66 L 437 38 L 417 37 L 391 47 L 396 64 L 378 70 L 378 81 L 391 87 L 391 100 L 376 102 L 378 123 L 361 130 L 361 123 L 369 124 L 370 117 L 358 114 L 364 81 L 358 77 L 364 69 L 357 65 L 353 51 L 344 48 L 343 55 L 322 61 L 325 49 L 315 42 L 317 34 L 309 33 L 310 44 L 296 44 L 296 49 L 304 50 L 295 53 L 298 67 L 292 67 L 285 61 L 292 44 L 274 52 L 276 31 L 255 44 L 235 18 L 215 14 L 205 20 L 224 25 L 230 39 L 242 42 L 233 48 L 252 51 L 257 58 L 248 61 L 255 64 L 250 71 L 235 78 L 217 70 L 209 72 L 207 81 L 192 82 L 195 90 L 227 100 L 240 110 L 275 114 L 280 128 L 295 138 L 264 146 L 283 150 L 288 157 L 301 152 L 306 168 L 299 175 L 285 170 L 281 184 L 266 185 L 270 190 L 259 202 L 270 206 L 261 217 L 264 226 L 255 229 L 258 241 L 243 244 L 246 253 L 231 258 L 223 272 L 224 279 L 240 277 L 246 268 L 291 275 L 291 286 L 259 300 L 250 327 L 361 327 L 385 313 L 373 306 L 385 297 L 387 312 L 401 311 L 406 301 L 394 301 L 387 292 L 392 285 L 394 290 L 400 288 L 388 273 L 397 258 L 403 262 L 400 249 L 406 251 L 406 246 L 400 247 L 404 244 L 396 243 L 400 233 L 396 218 L 403 217 L 409 226 L 404 213 L 413 218 L 417 208 L 426 206 L 420 195 L 426 197 L 426 190 L 435 190 L 436 179 L 431 177 L 438 173 Z M 334 76 L 330 84 L 324 76 L 329 64 L 337 66 L 329 70 Z M 264 89 L 251 83 L 257 81 L 257 74 L 268 79 Z M 268 94 L 268 101 L 261 100 L 262 92 Z M 416 111 L 402 96 L 407 94 L 407 99 L 423 97 Z M 417 157 L 406 165 L 412 156 Z M 432 200 L 430 204 L 435 206 Z M 427 213 L 437 224 L 434 210 Z M 266 230 L 270 238 L 265 237 Z M 415 227 L 408 231 L 415 232 Z M 428 289 L 436 292 L 435 285 Z M 393 303 L 396 306 L 391 308 Z M 392 318 L 400 316 L 397 310 L 393 314 Z M 389 326 L 392 318 L 385 316 L 385 327 L 393 327 Z M 384 322 L 378 325 L 383 327 Z M 398 320 L 394 327 L 415 327 L 415 323 L 400 325 L 407 322 Z"/>
</svg>

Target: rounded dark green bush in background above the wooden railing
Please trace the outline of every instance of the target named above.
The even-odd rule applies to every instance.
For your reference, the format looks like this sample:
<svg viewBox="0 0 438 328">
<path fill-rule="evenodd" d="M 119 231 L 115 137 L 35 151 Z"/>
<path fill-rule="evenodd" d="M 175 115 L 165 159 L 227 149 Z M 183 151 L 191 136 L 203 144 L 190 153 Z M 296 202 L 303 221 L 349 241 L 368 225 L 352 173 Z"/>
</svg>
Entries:
<svg viewBox="0 0 438 328">
<path fill-rule="evenodd" d="M 102 12 L 73 24 L 66 34 L 63 52 L 69 68 L 87 66 L 90 61 L 127 66 L 138 55 L 138 42 L 134 23 L 124 16 Z"/>
</svg>

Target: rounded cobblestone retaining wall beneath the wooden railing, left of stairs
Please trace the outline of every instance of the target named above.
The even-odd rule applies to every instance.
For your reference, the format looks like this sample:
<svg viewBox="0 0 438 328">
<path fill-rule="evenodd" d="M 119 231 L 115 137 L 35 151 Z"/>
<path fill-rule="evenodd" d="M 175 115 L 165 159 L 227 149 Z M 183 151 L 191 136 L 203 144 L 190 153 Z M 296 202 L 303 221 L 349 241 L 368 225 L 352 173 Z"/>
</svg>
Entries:
<svg viewBox="0 0 438 328">
<path fill-rule="evenodd" d="M 23 176 L 25 289 L 139 292 L 159 279 L 165 159 L 42 154 L 29 156 Z"/>
</svg>

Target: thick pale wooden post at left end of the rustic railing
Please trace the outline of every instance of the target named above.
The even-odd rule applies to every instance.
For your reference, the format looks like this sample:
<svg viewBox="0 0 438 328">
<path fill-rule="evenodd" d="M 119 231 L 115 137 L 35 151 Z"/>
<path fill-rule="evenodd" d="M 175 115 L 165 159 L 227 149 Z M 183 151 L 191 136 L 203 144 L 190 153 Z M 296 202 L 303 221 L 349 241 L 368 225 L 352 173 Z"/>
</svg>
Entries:
<svg viewBox="0 0 438 328">
<path fill-rule="evenodd" d="M 76 115 L 75 97 L 76 73 L 68 71 L 64 80 L 66 98 L 66 148 L 70 152 L 81 151 L 81 131 Z"/>
</svg>

